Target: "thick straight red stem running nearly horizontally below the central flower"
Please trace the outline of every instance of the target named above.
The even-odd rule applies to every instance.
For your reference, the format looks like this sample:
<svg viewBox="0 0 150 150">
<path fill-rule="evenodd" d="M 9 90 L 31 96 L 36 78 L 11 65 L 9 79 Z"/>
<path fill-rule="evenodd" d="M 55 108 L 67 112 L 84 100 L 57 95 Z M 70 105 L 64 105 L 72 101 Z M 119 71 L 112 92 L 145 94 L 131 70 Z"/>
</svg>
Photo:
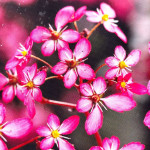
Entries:
<svg viewBox="0 0 150 150">
<path fill-rule="evenodd" d="M 65 107 L 70 107 L 70 108 L 76 109 L 76 104 L 72 104 L 72 103 L 68 103 L 68 102 L 55 101 L 55 100 L 49 100 L 49 99 L 44 98 L 44 97 L 42 98 L 42 103 L 57 105 L 57 106 L 65 106 Z"/>
</svg>

